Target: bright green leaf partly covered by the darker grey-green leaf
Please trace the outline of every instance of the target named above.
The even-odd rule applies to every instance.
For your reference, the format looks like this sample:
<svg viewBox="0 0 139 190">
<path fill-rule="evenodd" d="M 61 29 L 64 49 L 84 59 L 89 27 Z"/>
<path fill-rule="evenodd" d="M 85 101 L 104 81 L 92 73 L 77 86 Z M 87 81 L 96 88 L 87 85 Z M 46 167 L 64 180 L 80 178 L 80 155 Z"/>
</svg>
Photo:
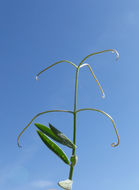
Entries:
<svg viewBox="0 0 139 190">
<path fill-rule="evenodd" d="M 53 140 L 61 143 L 61 140 L 59 139 L 59 137 L 57 137 L 52 130 L 49 127 L 46 127 L 40 123 L 35 123 L 34 124 L 40 131 L 42 131 L 45 135 L 47 135 L 48 137 L 51 137 Z"/>
</svg>

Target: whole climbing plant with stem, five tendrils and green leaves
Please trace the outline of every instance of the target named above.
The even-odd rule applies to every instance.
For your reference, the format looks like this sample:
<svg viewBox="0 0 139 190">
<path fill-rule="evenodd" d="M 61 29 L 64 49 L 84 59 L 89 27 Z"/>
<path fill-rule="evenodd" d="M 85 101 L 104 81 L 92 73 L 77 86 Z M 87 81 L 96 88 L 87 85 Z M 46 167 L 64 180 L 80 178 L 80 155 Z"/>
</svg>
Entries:
<svg viewBox="0 0 139 190">
<path fill-rule="evenodd" d="M 114 127 L 116 136 L 117 136 L 117 143 L 112 143 L 111 146 L 112 147 L 116 147 L 119 145 L 119 135 L 114 123 L 114 120 L 112 119 L 112 117 L 110 115 L 108 115 L 106 112 L 99 110 L 99 109 L 95 109 L 95 108 L 82 108 L 82 109 L 77 109 L 77 86 L 78 86 L 78 76 L 79 76 L 79 70 L 85 66 L 87 66 L 92 74 L 92 76 L 94 77 L 95 81 L 97 82 L 100 91 L 102 93 L 102 98 L 105 97 L 105 94 L 103 92 L 103 89 L 100 85 L 100 83 L 98 82 L 91 66 L 87 63 L 84 63 L 86 61 L 86 59 L 88 59 L 91 56 L 97 55 L 97 54 L 101 54 L 101 53 L 105 53 L 105 52 L 112 52 L 116 54 L 116 59 L 119 58 L 119 54 L 116 50 L 114 49 L 108 49 L 108 50 L 104 50 L 104 51 L 99 51 L 99 52 L 95 52 L 95 53 L 91 53 L 88 56 L 86 56 L 80 63 L 79 65 L 75 65 L 74 63 L 67 61 L 67 60 L 61 60 L 58 61 L 52 65 L 50 65 L 49 67 L 45 68 L 44 70 L 42 70 L 41 72 L 39 72 L 36 76 L 36 79 L 38 80 L 39 75 L 41 75 L 43 72 L 47 71 L 48 69 L 50 69 L 51 67 L 59 64 L 59 63 L 69 63 L 71 64 L 73 67 L 75 67 L 76 70 L 76 77 L 75 77 L 75 94 L 74 94 L 74 110 L 46 110 L 44 112 L 38 113 L 35 117 L 33 117 L 33 119 L 28 123 L 28 125 L 22 130 L 22 132 L 19 134 L 18 138 L 17 138 L 17 144 L 20 147 L 19 144 L 19 138 L 20 136 L 24 133 L 24 131 L 31 125 L 31 123 L 39 116 L 43 115 L 43 114 L 47 114 L 47 113 L 53 113 L 53 112 L 65 112 L 68 114 L 72 114 L 73 115 L 73 121 L 74 121 L 74 126 L 73 126 L 73 141 L 69 140 L 66 135 L 64 135 L 61 131 L 59 131 L 58 129 L 56 129 L 52 124 L 49 123 L 49 127 L 44 126 L 42 124 L 39 123 L 35 123 L 35 126 L 37 127 L 37 133 L 39 135 L 39 137 L 41 138 L 41 140 L 43 141 L 43 143 L 51 150 L 53 151 L 65 164 L 67 164 L 70 167 L 69 170 L 69 177 L 67 180 L 64 181 L 60 181 L 58 183 L 58 185 L 60 187 L 62 187 L 63 189 L 66 190 L 71 190 L 72 189 L 72 183 L 73 183 L 73 170 L 74 167 L 77 163 L 78 157 L 76 155 L 76 121 L 77 121 L 77 114 L 82 112 L 82 111 L 96 111 L 99 112 L 103 115 L 105 115 L 106 117 L 108 117 L 111 122 L 112 125 Z M 52 139 L 52 140 L 51 140 Z M 64 146 L 67 146 L 68 148 L 72 149 L 72 155 L 71 158 L 69 159 L 67 157 L 67 155 L 64 153 L 64 151 L 54 142 L 58 142 Z"/>
</svg>

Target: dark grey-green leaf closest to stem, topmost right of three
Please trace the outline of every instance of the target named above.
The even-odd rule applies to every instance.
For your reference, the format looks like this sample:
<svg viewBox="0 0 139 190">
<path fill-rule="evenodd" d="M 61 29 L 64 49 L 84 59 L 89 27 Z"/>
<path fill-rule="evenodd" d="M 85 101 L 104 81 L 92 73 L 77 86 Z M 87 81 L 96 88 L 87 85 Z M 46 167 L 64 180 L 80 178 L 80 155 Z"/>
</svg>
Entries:
<svg viewBox="0 0 139 190">
<path fill-rule="evenodd" d="M 56 129 L 50 123 L 49 123 L 49 127 L 52 130 L 52 132 L 61 140 L 61 143 L 63 145 L 68 146 L 69 148 L 76 148 L 76 145 L 73 144 L 61 131 Z"/>
</svg>

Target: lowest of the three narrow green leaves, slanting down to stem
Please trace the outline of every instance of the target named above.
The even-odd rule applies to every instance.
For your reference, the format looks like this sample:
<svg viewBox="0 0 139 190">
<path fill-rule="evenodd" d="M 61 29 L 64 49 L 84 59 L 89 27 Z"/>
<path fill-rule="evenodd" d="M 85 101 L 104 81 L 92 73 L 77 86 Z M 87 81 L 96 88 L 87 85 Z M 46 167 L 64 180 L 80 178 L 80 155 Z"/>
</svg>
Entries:
<svg viewBox="0 0 139 190">
<path fill-rule="evenodd" d="M 37 130 L 38 135 L 44 144 L 52 150 L 59 158 L 61 158 L 66 164 L 70 165 L 70 162 L 66 156 L 66 154 L 61 150 L 59 146 L 57 146 L 53 141 L 51 141 L 46 135 L 44 135 L 41 131 Z"/>
</svg>

